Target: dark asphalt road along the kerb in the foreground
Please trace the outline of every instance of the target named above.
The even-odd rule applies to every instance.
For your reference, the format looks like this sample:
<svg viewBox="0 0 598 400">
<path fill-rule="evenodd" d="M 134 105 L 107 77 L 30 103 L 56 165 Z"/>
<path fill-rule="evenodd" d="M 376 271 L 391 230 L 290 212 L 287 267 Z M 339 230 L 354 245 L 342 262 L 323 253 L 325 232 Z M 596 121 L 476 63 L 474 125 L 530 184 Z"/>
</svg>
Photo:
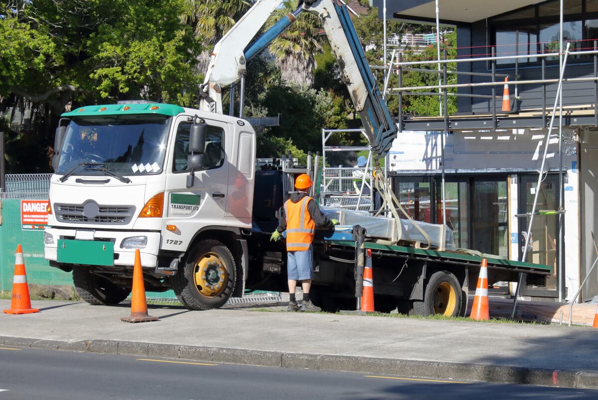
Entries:
<svg viewBox="0 0 598 400">
<path fill-rule="evenodd" d="M 0 346 L 0 400 L 596 399 L 598 391 Z"/>
</svg>

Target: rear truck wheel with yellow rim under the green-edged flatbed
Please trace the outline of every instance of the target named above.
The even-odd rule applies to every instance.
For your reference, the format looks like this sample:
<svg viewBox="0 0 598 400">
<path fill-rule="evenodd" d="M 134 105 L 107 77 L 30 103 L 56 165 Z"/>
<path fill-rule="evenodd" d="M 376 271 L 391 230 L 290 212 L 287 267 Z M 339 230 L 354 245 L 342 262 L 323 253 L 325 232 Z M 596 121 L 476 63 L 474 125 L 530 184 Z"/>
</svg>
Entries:
<svg viewBox="0 0 598 400">
<path fill-rule="evenodd" d="M 426 285 L 423 301 L 411 303 L 411 315 L 458 316 L 462 306 L 462 291 L 459 280 L 449 271 L 437 271 Z"/>
</svg>

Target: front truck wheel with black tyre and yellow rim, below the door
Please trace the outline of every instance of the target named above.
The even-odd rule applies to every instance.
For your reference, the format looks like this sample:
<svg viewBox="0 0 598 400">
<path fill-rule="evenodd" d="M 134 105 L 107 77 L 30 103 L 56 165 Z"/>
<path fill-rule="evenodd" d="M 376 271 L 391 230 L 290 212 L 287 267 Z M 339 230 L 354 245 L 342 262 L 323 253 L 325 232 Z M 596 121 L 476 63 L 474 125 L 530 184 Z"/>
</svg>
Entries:
<svg viewBox="0 0 598 400">
<path fill-rule="evenodd" d="M 203 240 L 191 249 L 182 271 L 173 277 L 176 297 L 190 310 L 224 306 L 233 294 L 236 266 L 231 251 L 218 240 Z"/>
</svg>

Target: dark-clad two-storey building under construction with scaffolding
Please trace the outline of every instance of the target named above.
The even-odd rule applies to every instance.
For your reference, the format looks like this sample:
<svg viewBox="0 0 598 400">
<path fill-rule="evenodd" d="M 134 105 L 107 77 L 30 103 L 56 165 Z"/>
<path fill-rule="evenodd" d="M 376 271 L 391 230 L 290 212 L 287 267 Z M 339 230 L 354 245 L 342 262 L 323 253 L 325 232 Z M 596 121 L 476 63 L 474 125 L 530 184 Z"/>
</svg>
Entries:
<svg viewBox="0 0 598 400">
<path fill-rule="evenodd" d="M 598 295 L 598 1 L 370 4 L 385 22 L 456 30 L 451 59 L 440 48 L 422 61 L 385 51 L 386 73 L 399 74 L 386 96 L 440 98 L 436 115 L 396 117 L 386 168 L 410 215 L 446 223 L 457 248 L 554 268 L 545 287 L 523 277 L 520 295 Z M 436 86 L 402 85 L 402 74 L 424 68 Z M 449 96 L 456 113 L 446 112 Z"/>
</svg>

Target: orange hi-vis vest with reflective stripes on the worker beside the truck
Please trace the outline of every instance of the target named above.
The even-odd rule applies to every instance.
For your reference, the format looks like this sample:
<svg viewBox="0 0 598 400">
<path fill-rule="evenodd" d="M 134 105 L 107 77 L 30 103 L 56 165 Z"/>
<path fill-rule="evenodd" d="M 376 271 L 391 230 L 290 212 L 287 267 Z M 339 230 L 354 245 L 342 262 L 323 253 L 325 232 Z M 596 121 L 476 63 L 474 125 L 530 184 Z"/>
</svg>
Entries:
<svg viewBox="0 0 598 400">
<path fill-rule="evenodd" d="M 287 251 L 305 251 L 312 245 L 316 223 L 307 211 L 310 200 L 313 199 L 306 196 L 297 203 L 290 199 L 285 202 Z"/>
</svg>

